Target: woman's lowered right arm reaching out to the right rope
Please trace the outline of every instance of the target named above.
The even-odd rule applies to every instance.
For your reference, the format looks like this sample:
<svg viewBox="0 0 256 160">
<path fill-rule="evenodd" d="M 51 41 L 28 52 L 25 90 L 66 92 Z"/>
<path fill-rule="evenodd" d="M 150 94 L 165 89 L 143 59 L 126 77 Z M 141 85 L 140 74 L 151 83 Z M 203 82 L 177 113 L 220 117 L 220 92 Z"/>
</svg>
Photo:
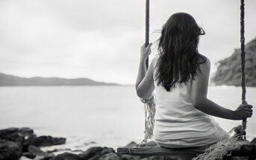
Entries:
<svg viewBox="0 0 256 160">
<path fill-rule="evenodd" d="M 240 105 L 233 111 L 209 100 L 207 98 L 207 88 L 210 74 L 210 60 L 207 59 L 204 64 L 200 65 L 200 69 L 201 73 L 199 72 L 196 75 L 196 80 L 192 81 L 191 86 L 191 100 L 196 109 L 208 115 L 231 120 L 242 120 L 252 117 L 251 105 Z"/>
</svg>

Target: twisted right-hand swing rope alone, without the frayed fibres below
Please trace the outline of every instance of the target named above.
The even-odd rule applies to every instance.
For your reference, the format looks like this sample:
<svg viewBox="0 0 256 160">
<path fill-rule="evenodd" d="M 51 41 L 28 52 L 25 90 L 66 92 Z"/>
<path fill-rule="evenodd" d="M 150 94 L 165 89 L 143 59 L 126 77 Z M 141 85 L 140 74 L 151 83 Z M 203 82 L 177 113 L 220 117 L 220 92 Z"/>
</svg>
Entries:
<svg viewBox="0 0 256 160">
<path fill-rule="evenodd" d="M 246 74 L 245 74 L 245 64 L 246 64 L 246 52 L 245 52 L 245 24 L 244 24 L 244 17 L 245 17 L 245 3 L 244 0 L 241 0 L 240 5 L 240 42 L 241 42 L 241 73 L 242 73 L 242 80 L 241 80 L 241 86 L 242 86 L 242 104 L 247 105 L 246 102 Z M 241 134 L 244 135 L 244 138 L 246 139 L 246 119 L 242 122 L 242 131 Z"/>
</svg>

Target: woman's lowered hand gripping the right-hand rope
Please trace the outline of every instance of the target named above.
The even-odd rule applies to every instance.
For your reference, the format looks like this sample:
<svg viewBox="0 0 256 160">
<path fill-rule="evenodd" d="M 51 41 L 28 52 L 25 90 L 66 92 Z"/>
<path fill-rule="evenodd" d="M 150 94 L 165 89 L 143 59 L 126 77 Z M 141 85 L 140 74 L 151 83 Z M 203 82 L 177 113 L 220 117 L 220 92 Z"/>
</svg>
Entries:
<svg viewBox="0 0 256 160">
<path fill-rule="evenodd" d="M 252 105 L 240 104 L 234 111 L 234 119 L 243 120 L 250 117 L 252 117 Z"/>
</svg>

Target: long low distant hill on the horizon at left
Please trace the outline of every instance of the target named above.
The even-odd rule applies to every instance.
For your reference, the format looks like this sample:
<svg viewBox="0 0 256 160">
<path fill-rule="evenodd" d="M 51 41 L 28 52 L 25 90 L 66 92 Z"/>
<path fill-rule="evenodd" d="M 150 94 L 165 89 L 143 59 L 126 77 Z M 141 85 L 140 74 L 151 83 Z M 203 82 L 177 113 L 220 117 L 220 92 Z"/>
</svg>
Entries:
<svg viewBox="0 0 256 160">
<path fill-rule="evenodd" d="M 0 86 L 113 86 L 115 83 L 103 83 L 88 78 L 65 79 L 58 77 L 16 77 L 0 73 Z"/>
</svg>

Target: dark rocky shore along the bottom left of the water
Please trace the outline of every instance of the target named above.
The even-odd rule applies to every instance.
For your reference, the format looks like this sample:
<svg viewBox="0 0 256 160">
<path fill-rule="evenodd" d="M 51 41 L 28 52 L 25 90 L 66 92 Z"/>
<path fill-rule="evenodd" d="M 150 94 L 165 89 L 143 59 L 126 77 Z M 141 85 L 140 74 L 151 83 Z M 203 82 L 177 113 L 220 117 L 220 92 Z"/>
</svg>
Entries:
<svg viewBox="0 0 256 160">
<path fill-rule="evenodd" d="M 40 147 L 65 144 L 66 138 L 54 138 L 49 135 L 37 136 L 30 128 L 7 128 L 0 130 L 0 160 L 128 160 L 162 159 L 161 157 L 143 158 L 140 156 L 119 155 L 110 147 L 90 147 L 75 154 L 58 150 L 43 151 Z M 127 146 L 135 147 L 131 142 Z"/>
</svg>

